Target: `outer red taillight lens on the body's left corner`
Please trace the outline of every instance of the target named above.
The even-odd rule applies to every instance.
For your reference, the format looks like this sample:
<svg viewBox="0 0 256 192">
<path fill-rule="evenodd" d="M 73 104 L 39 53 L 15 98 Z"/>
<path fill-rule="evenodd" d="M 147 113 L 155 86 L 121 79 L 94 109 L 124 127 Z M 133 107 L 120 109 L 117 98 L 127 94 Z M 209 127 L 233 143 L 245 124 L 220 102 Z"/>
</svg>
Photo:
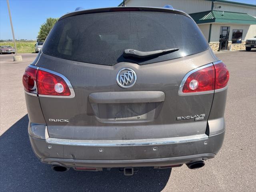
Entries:
<svg viewBox="0 0 256 192">
<path fill-rule="evenodd" d="M 36 69 L 27 67 L 22 77 L 22 83 L 26 92 L 36 90 Z"/>
</svg>

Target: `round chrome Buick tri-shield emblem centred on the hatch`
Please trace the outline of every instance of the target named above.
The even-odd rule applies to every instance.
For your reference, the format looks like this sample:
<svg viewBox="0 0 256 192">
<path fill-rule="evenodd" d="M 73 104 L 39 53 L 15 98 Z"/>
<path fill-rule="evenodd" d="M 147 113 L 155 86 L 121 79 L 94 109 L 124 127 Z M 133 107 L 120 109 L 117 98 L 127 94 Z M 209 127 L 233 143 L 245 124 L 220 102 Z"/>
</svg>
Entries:
<svg viewBox="0 0 256 192">
<path fill-rule="evenodd" d="M 116 74 L 116 82 L 122 88 L 132 87 L 136 83 L 136 80 L 136 73 L 130 68 L 122 68 Z"/>
</svg>

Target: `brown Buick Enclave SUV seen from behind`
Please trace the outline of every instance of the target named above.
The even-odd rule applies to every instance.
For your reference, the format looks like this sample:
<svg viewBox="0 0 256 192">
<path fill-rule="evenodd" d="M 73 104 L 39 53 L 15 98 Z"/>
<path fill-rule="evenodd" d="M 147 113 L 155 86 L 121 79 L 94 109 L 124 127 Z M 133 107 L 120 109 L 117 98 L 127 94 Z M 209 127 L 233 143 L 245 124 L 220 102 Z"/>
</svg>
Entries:
<svg viewBox="0 0 256 192">
<path fill-rule="evenodd" d="M 222 146 L 228 79 L 182 11 L 68 13 L 23 76 L 32 148 L 56 171 L 200 168 Z"/>
</svg>

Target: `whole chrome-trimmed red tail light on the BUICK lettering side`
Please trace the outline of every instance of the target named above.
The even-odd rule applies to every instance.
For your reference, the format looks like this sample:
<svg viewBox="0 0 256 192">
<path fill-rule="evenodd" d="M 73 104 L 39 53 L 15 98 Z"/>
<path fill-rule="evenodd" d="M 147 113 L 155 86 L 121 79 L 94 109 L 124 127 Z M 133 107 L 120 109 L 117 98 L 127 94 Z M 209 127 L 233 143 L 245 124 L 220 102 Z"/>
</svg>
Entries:
<svg viewBox="0 0 256 192">
<path fill-rule="evenodd" d="M 56 72 L 27 67 L 22 82 L 26 92 L 49 97 L 74 97 L 74 94 L 72 94 L 74 91 L 70 82 L 66 77 Z"/>
</svg>

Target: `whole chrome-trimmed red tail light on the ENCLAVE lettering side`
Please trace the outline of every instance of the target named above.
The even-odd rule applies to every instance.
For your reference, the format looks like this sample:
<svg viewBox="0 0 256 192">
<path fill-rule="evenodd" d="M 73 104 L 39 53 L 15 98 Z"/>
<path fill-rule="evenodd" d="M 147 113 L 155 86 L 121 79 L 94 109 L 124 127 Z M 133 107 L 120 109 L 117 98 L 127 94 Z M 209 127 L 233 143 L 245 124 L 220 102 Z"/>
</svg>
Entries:
<svg viewBox="0 0 256 192">
<path fill-rule="evenodd" d="M 224 88 L 228 84 L 229 72 L 223 62 L 208 64 L 189 72 L 182 80 L 179 94 L 204 94 Z"/>
</svg>

